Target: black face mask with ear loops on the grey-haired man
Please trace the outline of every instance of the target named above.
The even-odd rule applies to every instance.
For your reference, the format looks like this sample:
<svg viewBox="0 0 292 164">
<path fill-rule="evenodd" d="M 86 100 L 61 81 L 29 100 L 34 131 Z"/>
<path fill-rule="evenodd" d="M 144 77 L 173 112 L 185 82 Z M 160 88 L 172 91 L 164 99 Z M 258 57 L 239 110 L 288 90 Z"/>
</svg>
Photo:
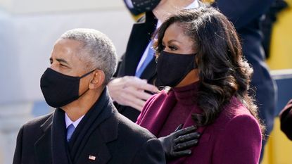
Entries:
<svg viewBox="0 0 292 164">
<path fill-rule="evenodd" d="M 87 91 L 79 96 L 80 79 L 86 77 L 91 72 L 94 72 L 94 70 L 81 77 L 72 77 L 47 68 L 41 77 L 41 89 L 46 103 L 49 106 L 58 108 L 79 99 L 80 96 L 88 91 L 87 89 Z"/>
</svg>

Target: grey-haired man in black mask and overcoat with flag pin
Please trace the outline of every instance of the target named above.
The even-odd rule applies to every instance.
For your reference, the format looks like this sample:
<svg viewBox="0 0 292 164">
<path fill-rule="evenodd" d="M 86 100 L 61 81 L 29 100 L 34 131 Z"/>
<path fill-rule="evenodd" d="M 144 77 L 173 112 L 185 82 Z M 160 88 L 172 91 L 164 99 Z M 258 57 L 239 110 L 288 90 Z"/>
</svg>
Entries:
<svg viewBox="0 0 292 164">
<path fill-rule="evenodd" d="M 21 127 L 13 164 L 165 163 L 160 141 L 113 106 L 106 84 L 117 56 L 105 34 L 65 32 L 50 62 L 41 89 L 56 110 Z"/>
</svg>

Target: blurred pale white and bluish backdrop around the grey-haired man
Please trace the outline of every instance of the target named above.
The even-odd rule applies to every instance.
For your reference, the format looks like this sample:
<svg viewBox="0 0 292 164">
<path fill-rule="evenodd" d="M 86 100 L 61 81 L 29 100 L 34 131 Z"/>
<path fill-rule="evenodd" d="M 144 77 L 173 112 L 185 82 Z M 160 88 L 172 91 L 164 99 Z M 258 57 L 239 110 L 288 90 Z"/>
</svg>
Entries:
<svg viewBox="0 0 292 164">
<path fill-rule="evenodd" d="M 56 38 L 72 28 L 94 28 L 122 54 L 133 23 L 117 0 L 0 1 L 0 164 L 12 163 L 20 125 L 51 112 L 39 77 L 49 67 Z"/>
</svg>

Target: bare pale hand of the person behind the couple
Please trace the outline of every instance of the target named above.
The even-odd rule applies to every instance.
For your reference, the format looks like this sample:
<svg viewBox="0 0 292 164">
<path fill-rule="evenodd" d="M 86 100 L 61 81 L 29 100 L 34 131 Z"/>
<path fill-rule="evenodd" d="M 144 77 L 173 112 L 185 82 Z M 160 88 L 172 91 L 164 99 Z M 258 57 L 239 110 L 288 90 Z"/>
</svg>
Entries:
<svg viewBox="0 0 292 164">
<path fill-rule="evenodd" d="M 110 97 L 122 106 L 131 106 L 141 111 L 146 100 L 152 96 L 145 91 L 158 93 L 158 88 L 139 77 L 125 76 L 108 83 Z"/>
</svg>

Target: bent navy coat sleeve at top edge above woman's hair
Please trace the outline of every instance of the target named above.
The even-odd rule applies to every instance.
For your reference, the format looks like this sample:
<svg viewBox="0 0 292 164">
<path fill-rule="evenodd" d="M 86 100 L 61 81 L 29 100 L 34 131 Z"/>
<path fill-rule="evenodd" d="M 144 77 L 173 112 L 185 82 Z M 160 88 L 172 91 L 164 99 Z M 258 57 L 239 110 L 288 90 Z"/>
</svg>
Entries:
<svg viewBox="0 0 292 164">
<path fill-rule="evenodd" d="M 219 10 L 239 29 L 266 13 L 274 0 L 215 0 L 212 6 Z"/>
</svg>

